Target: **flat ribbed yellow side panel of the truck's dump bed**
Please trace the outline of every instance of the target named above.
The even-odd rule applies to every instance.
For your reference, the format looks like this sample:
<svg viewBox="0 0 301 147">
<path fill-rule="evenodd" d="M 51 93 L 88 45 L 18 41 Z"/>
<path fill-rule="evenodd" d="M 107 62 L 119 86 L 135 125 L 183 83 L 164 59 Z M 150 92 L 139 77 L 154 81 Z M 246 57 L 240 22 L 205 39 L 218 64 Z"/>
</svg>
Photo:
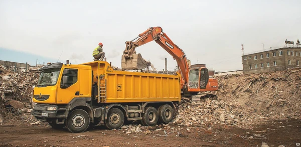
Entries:
<svg viewBox="0 0 301 147">
<path fill-rule="evenodd" d="M 180 101 L 179 78 L 175 75 L 107 72 L 105 102 Z"/>
</svg>

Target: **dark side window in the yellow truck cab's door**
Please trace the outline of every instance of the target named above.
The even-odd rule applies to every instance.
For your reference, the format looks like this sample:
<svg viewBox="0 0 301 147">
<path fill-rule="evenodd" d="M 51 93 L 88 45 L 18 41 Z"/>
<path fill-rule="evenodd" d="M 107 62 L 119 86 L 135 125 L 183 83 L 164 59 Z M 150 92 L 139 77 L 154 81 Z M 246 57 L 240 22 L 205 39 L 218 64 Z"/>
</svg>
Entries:
<svg viewBox="0 0 301 147">
<path fill-rule="evenodd" d="M 63 73 L 61 79 L 61 88 L 68 88 L 71 85 L 77 82 L 78 70 L 77 69 L 69 69 L 68 73 Z M 63 78 L 67 76 L 67 83 L 63 84 Z"/>
</svg>

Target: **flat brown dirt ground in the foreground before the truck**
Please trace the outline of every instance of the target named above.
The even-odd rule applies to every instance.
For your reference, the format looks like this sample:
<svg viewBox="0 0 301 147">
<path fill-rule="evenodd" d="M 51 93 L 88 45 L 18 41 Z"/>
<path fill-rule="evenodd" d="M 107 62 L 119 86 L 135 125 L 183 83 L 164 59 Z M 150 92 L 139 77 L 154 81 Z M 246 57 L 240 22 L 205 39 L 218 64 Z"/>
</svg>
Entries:
<svg viewBox="0 0 301 147">
<path fill-rule="evenodd" d="M 301 120 L 264 121 L 249 129 L 228 125 L 189 127 L 169 124 L 150 133 L 125 134 L 124 129 L 94 126 L 83 133 L 56 130 L 47 123 L 29 125 L 20 120 L 0 125 L 0 146 L 295 146 L 301 142 Z M 173 127 L 181 127 L 173 131 Z M 164 136 L 164 130 L 167 136 Z M 178 133 L 179 132 L 179 133 Z"/>
</svg>

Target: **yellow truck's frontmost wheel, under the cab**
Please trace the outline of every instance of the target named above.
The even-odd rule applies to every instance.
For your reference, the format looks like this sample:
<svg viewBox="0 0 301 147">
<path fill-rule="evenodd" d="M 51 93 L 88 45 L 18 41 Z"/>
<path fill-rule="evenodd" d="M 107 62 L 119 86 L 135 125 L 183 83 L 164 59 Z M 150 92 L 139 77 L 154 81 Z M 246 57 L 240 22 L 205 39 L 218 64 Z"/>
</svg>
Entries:
<svg viewBox="0 0 301 147">
<path fill-rule="evenodd" d="M 70 132 L 78 133 L 84 132 L 89 127 L 89 124 L 89 114 L 83 109 L 76 109 L 69 114 L 66 127 Z"/>
</svg>

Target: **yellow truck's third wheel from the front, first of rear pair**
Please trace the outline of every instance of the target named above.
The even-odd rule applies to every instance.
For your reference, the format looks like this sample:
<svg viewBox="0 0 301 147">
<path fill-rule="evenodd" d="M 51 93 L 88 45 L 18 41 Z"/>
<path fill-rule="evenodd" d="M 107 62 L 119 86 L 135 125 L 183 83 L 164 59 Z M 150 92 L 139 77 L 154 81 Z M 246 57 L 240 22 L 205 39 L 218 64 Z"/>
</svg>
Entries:
<svg viewBox="0 0 301 147">
<path fill-rule="evenodd" d="M 145 112 L 142 114 L 142 124 L 147 126 L 156 125 L 158 122 L 158 112 L 154 107 L 146 107 Z"/>
</svg>

